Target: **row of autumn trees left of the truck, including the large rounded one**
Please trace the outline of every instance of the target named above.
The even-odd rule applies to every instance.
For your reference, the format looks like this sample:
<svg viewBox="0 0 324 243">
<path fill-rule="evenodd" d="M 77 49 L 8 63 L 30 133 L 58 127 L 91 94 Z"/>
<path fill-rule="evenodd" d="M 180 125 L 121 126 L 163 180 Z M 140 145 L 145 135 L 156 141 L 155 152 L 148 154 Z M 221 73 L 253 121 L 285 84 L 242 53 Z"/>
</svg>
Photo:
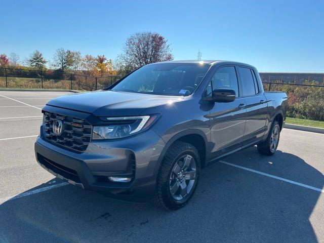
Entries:
<svg viewBox="0 0 324 243">
<path fill-rule="evenodd" d="M 173 60 L 168 40 L 156 32 L 137 32 L 126 39 L 121 53 L 113 62 L 105 55 L 82 56 L 79 51 L 59 48 L 52 60 L 46 60 L 38 50 L 21 60 L 16 53 L 0 54 L 0 67 L 31 70 L 55 70 L 58 72 L 84 72 L 91 76 L 125 75 L 146 64 Z M 50 65 L 49 65 L 50 63 Z"/>
</svg>

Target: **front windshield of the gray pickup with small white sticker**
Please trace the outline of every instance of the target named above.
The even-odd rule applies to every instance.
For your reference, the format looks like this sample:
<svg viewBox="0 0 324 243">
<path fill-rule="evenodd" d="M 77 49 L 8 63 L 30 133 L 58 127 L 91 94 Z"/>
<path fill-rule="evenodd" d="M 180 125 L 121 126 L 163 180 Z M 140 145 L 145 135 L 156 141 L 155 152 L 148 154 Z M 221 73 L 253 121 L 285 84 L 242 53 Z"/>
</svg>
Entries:
<svg viewBox="0 0 324 243">
<path fill-rule="evenodd" d="M 186 96 L 194 92 L 209 67 L 198 63 L 151 64 L 136 70 L 112 90 Z"/>
</svg>

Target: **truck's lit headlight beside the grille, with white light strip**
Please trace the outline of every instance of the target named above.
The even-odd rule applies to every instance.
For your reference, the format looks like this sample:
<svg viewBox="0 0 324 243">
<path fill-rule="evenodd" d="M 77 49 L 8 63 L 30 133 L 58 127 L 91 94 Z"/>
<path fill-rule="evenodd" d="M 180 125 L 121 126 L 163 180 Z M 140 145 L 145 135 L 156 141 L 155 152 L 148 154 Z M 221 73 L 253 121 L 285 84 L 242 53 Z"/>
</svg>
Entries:
<svg viewBox="0 0 324 243">
<path fill-rule="evenodd" d="M 107 117 L 109 125 L 94 127 L 92 139 L 125 138 L 148 129 L 158 118 L 158 114 L 126 117 Z"/>
</svg>

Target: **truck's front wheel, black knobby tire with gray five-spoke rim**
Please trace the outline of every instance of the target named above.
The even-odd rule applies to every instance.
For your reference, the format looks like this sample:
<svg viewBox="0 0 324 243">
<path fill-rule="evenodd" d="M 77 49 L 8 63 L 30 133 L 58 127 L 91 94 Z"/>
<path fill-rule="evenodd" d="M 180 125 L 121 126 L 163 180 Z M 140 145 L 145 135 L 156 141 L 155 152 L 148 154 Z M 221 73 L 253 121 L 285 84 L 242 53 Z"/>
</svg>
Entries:
<svg viewBox="0 0 324 243">
<path fill-rule="evenodd" d="M 197 149 L 189 143 L 175 142 L 162 161 L 153 202 L 169 210 L 185 206 L 197 186 L 199 171 Z"/>
</svg>

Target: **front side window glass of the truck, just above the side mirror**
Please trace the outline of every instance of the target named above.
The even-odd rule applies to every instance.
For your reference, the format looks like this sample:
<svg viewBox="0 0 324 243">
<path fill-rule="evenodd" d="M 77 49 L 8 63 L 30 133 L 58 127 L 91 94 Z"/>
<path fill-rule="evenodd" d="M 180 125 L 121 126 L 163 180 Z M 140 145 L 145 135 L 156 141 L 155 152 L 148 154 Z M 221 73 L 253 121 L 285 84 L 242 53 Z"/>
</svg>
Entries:
<svg viewBox="0 0 324 243">
<path fill-rule="evenodd" d="M 212 77 L 213 90 L 217 88 L 226 88 L 235 90 L 238 97 L 238 83 L 234 67 L 221 67 L 216 70 Z"/>
</svg>

